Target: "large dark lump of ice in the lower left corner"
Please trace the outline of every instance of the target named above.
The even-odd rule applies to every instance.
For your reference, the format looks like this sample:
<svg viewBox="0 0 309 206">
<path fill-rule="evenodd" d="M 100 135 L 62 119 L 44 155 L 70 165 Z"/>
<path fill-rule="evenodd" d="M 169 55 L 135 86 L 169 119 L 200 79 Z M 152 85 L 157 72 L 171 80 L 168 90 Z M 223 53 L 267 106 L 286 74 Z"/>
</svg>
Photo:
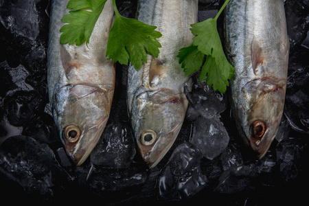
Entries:
<svg viewBox="0 0 309 206">
<path fill-rule="evenodd" d="M 71 181 L 49 146 L 26 136 L 10 137 L 0 146 L 0 174 L 1 179 L 18 184 L 24 192 L 45 198 L 60 192 L 63 182 Z"/>
</svg>

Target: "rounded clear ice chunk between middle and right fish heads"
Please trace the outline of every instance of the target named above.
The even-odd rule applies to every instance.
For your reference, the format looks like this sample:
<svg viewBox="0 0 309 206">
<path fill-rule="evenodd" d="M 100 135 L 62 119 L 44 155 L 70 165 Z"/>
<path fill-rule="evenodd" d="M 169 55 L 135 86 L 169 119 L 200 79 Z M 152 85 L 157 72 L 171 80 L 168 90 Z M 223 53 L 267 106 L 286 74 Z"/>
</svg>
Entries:
<svg viewBox="0 0 309 206">
<path fill-rule="evenodd" d="M 193 135 L 190 139 L 207 159 L 214 159 L 227 148 L 229 135 L 218 116 L 206 119 L 198 117 L 194 123 Z"/>
</svg>

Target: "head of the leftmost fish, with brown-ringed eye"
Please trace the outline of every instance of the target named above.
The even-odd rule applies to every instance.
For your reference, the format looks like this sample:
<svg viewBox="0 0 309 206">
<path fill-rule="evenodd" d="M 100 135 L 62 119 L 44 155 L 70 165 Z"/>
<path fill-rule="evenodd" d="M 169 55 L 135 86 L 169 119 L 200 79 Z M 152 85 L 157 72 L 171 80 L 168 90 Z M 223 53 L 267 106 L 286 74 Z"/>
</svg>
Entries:
<svg viewBox="0 0 309 206">
<path fill-rule="evenodd" d="M 56 92 L 54 119 L 67 155 L 81 165 L 106 126 L 113 91 L 110 86 L 69 84 Z"/>
</svg>

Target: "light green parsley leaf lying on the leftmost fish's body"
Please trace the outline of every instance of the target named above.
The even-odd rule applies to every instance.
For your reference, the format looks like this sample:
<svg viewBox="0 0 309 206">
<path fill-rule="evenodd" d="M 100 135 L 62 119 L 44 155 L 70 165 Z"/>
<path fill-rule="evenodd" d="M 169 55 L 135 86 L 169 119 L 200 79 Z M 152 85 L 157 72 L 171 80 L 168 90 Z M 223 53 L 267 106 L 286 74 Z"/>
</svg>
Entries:
<svg viewBox="0 0 309 206">
<path fill-rule="evenodd" d="M 69 14 L 63 16 L 61 21 L 67 23 L 60 29 L 60 43 L 82 45 L 84 41 L 89 43 L 89 38 L 95 23 L 107 0 L 70 0 L 67 8 Z M 88 11 L 91 10 L 91 11 Z"/>
</svg>

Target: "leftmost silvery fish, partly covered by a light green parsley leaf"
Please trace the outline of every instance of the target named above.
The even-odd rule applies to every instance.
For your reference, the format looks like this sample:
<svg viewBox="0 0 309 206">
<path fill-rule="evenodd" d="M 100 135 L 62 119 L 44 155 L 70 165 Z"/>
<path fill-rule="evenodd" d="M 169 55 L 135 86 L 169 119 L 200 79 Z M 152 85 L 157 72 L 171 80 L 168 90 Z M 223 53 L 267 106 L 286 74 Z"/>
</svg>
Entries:
<svg viewBox="0 0 309 206">
<path fill-rule="evenodd" d="M 60 139 L 69 157 L 81 165 L 100 139 L 111 109 L 115 65 L 105 53 L 113 5 L 106 2 L 88 46 L 60 45 L 60 19 L 69 13 L 68 1 L 52 2 L 47 80 Z"/>
</svg>

